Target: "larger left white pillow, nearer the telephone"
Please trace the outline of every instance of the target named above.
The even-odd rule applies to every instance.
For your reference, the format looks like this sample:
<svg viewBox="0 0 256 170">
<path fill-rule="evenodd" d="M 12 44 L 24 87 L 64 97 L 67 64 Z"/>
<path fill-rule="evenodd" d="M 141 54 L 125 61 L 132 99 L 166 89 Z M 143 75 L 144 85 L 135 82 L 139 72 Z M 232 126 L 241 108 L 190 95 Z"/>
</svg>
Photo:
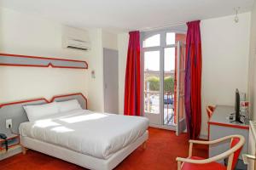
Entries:
<svg viewBox="0 0 256 170">
<path fill-rule="evenodd" d="M 55 115 L 59 112 L 56 102 L 44 105 L 25 105 L 23 108 L 30 122 L 37 121 L 44 116 Z"/>
</svg>

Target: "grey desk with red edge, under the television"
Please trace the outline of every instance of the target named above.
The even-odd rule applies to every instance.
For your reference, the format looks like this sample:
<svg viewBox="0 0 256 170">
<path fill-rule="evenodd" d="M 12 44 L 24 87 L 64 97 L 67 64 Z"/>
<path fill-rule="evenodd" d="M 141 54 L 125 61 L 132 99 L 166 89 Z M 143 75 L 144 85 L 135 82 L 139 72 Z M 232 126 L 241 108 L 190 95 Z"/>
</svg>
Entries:
<svg viewBox="0 0 256 170">
<path fill-rule="evenodd" d="M 220 139 L 231 134 L 241 134 L 246 139 L 239 159 L 242 159 L 242 153 L 247 153 L 249 126 L 244 123 L 230 122 L 230 113 L 235 112 L 234 106 L 217 105 L 211 119 L 208 122 L 209 140 Z M 209 147 L 209 156 L 216 156 L 230 148 L 230 141 L 220 144 L 212 144 Z"/>
</svg>

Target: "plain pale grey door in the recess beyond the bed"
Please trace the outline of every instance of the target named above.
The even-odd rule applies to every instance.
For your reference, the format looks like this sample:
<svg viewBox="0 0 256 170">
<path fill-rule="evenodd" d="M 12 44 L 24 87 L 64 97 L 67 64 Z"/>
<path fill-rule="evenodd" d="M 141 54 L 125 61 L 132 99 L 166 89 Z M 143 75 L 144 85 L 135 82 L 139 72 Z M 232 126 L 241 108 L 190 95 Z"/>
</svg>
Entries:
<svg viewBox="0 0 256 170">
<path fill-rule="evenodd" d="M 103 48 L 104 111 L 119 113 L 119 57 L 118 51 Z"/>
</svg>

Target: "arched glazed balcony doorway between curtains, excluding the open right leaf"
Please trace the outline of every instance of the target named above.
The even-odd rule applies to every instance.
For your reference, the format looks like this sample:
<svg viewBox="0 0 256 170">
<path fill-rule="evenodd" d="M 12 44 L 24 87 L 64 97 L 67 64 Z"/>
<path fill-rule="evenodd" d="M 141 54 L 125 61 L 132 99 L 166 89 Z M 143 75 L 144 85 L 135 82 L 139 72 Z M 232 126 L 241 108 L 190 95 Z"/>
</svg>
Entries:
<svg viewBox="0 0 256 170">
<path fill-rule="evenodd" d="M 144 113 L 152 124 L 176 126 L 175 63 L 180 58 L 177 54 L 182 54 L 181 45 L 186 34 L 173 31 L 152 33 L 142 35 Z"/>
</svg>

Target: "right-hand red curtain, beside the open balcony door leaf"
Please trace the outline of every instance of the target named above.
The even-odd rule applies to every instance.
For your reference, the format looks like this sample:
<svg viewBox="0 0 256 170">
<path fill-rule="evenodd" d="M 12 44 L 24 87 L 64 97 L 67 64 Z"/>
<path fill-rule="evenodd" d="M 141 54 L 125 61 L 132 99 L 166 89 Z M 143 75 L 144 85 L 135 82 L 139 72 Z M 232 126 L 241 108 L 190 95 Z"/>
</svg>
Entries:
<svg viewBox="0 0 256 170">
<path fill-rule="evenodd" d="M 201 32 L 200 20 L 187 23 L 185 110 L 189 139 L 201 133 Z"/>
</svg>

